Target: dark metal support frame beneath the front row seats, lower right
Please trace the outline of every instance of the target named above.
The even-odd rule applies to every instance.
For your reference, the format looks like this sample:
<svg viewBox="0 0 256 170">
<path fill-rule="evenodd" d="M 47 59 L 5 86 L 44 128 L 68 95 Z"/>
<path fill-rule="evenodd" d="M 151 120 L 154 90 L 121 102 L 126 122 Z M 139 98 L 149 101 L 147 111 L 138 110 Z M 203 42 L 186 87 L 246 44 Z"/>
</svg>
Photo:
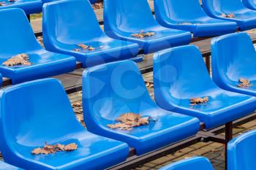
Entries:
<svg viewBox="0 0 256 170">
<path fill-rule="evenodd" d="M 189 147 L 192 144 L 196 144 L 197 142 L 217 142 L 221 144 L 225 144 L 225 163 L 227 170 L 227 142 L 229 142 L 233 138 L 233 127 L 238 125 L 242 125 L 249 121 L 256 119 L 256 113 L 252 113 L 246 117 L 243 117 L 239 120 L 235 120 L 233 122 L 226 123 L 225 125 L 219 126 L 217 128 L 213 128 L 211 130 L 206 131 L 204 123 L 200 123 L 200 131 L 195 135 L 188 139 L 185 139 L 181 142 L 176 142 L 175 144 L 170 144 L 167 147 L 162 147 L 159 150 L 154 150 L 153 152 L 148 152 L 145 155 L 137 156 L 135 155 L 135 149 L 130 148 L 129 150 L 129 158 L 127 161 L 123 163 L 119 163 L 116 166 L 111 167 L 109 170 L 123 170 L 123 169 L 132 169 L 136 166 L 140 166 L 144 163 L 148 163 L 149 161 L 153 161 L 154 159 L 161 158 L 162 156 L 168 155 L 172 152 L 176 152 L 185 147 Z M 225 136 L 219 135 L 225 131 Z"/>
</svg>

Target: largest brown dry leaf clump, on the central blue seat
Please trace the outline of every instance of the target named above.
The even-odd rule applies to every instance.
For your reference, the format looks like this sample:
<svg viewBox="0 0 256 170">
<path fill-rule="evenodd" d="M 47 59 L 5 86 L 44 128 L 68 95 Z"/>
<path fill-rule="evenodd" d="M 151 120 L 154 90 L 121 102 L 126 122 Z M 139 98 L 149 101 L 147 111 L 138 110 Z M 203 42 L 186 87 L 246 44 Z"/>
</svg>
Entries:
<svg viewBox="0 0 256 170">
<path fill-rule="evenodd" d="M 118 123 L 108 124 L 108 128 L 118 128 L 121 130 L 131 131 L 132 128 L 138 127 L 140 125 L 148 125 L 150 117 L 141 117 L 140 114 L 135 114 L 132 112 L 122 114 L 120 117 L 116 118 Z"/>
</svg>

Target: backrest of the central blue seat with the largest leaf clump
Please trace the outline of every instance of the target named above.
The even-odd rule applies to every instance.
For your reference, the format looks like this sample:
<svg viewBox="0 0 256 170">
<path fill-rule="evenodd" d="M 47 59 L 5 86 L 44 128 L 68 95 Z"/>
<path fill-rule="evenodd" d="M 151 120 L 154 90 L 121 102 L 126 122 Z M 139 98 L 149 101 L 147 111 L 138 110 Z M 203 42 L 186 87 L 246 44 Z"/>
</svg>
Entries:
<svg viewBox="0 0 256 170">
<path fill-rule="evenodd" d="M 143 115 L 156 105 L 133 61 L 94 66 L 83 72 L 83 105 L 87 128 L 115 120 L 126 112 Z"/>
</svg>

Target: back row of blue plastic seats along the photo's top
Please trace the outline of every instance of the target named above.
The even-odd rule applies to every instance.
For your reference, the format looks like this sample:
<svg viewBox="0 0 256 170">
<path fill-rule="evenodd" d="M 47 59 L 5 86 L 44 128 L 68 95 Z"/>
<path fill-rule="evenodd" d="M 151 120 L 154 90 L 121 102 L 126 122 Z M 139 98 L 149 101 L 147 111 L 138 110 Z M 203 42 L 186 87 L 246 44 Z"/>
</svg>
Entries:
<svg viewBox="0 0 256 170">
<path fill-rule="evenodd" d="M 111 61 L 135 58 L 139 50 L 143 50 L 143 53 L 147 54 L 170 47 L 187 45 L 192 38 L 189 31 L 196 36 L 210 36 L 236 31 L 237 23 L 243 30 L 256 27 L 256 18 L 252 17 L 256 11 L 250 9 L 238 9 L 239 12 L 248 11 L 250 15 L 238 14 L 233 11 L 235 18 L 227 21 L 208 17 L 198 1 L 189 1 L 190 10 L 184 9 L 182 12 L 183 3 L 185 2 L 154 1 L 156 18 L 162 25 L 160 26 L 151 14 L 146 0 L 105 0 L 105 32 L 99 27 L 91 4 L 87 0 L 45 3 L 43 7 L 43 39 L 46 50 L 40 47 L 35 39 L 29 20 L 26 19 L 26 14 L 21 9 L 1 9 L 0 7 L 0 38 L 2 40 L 0 47 L 3 49 L 1 50 L 1 63 L 18 53 L 26 53 L 33 63 L 31 66 L 0 66 L 0 72 L 4 77 L 11 78 L 12 84 L 17 84 L 72 72 L 75 69 L 75 61 L 80 61 L 84 68 L 88 68 Z M 211 4 L 206 3 L 203 3 L 203 6 L 209 7 L 207 13 L 212 12 Z M 220 3 L 220 1 L 219 5 L 223 6 L 222 9 L 231 7 L 231 5 Z M 239 6 L 238 2 L 232 5 Z M 239 7 L 242 7 L 242 4 Z M 176 16 L 173 13 L 165 15 L 169 13 L 168 9 L 172 9 L 170 11 L 175 14 L 180 13 L 180 15 Z M 232 12 L 231 9 L 229 9 L 230 12 Z M 140 17 L 138 17 L 138 13 L 140 13 Z M 227 14 L 228 12 L 222 11 L 222 13 Z M 176 18 L 171 18 L 174 16 Z M 238 21 L 239 18 L 241 22 Z M 182 22 L 191 24 L 182 24 Z M 131 36 L 142 30 L 155 35 L 142 39 Z M 80 43 L 94 47 L 94 50 L 77 49 Z"/>
</svg>

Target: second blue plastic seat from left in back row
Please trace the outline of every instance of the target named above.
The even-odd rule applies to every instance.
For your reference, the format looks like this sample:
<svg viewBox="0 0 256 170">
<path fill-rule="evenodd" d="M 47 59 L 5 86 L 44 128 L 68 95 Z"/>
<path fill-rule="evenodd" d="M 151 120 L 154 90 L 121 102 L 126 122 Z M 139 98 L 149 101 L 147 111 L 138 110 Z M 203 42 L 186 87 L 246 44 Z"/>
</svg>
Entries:
<svg viewBox="0 0 256 170">
<path fill-rule="evenodd" d="M 111 39 L 104 34 L 88 0 L 44 4 L 43 36 L 47 50 L 73 55 L 83 67 L 134 58 L 138 54 L 137 44 Z M 80 43 L 102 46 L 102 49 L 74 51 Z"/>
</svg>

